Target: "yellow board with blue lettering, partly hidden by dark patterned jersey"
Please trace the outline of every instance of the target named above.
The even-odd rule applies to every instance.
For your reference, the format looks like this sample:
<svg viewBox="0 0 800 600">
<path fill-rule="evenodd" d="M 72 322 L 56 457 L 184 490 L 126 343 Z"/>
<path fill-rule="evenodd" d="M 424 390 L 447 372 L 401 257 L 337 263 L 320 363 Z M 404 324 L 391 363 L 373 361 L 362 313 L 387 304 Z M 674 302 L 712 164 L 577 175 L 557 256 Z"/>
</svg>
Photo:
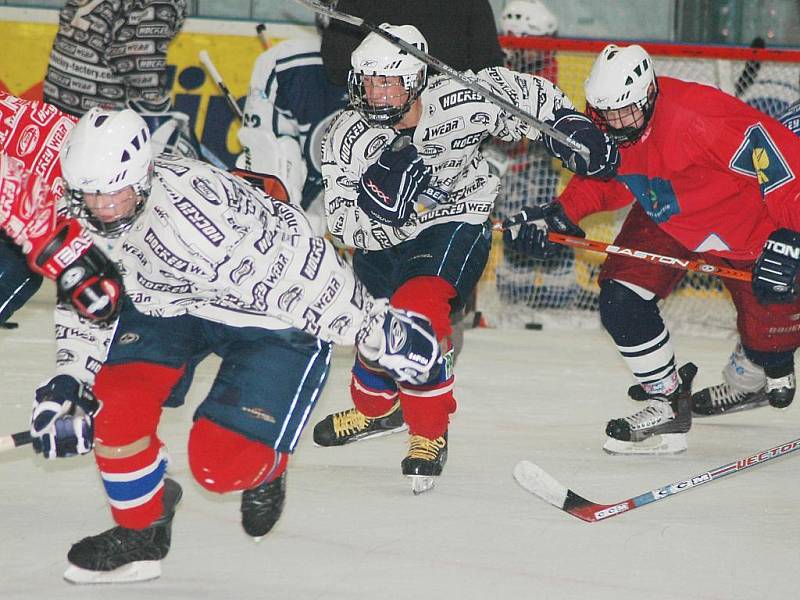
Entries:
<svg viewBox="0 0 800 600">
<path fill-rule="evenodd" d="M 6 47 L 0 56 L 0 89 L 41 99 L 42 80 L 56 29 L 51 23 L 0 22 L 0 39 Z M 197 57 L 200 50 L 209 53 L 231 93 L 243 106 L 261 45 L 255 35 L 182 31 L 170 45 L 167 56 L 176 110 L 190 116 L 200 143 L 230 165 L 241 150 L 236 140 L 239 123 L 200 65 Z"/>
</svg>

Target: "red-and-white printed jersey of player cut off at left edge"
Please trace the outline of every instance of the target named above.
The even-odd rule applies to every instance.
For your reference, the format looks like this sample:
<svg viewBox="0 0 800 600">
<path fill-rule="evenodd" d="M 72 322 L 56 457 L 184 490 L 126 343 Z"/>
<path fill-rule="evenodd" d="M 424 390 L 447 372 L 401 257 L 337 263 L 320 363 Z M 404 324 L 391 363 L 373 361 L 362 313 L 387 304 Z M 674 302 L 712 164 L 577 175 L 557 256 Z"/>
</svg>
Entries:
<svg viewBox="0 0 800 600">
<path fill-rule="evenodd" d="M 55 227 L 63 192 L 58 155 L 76 122 L 50 104 L 0 91 L 0 228 L 26 254 Z"/>
</svg>

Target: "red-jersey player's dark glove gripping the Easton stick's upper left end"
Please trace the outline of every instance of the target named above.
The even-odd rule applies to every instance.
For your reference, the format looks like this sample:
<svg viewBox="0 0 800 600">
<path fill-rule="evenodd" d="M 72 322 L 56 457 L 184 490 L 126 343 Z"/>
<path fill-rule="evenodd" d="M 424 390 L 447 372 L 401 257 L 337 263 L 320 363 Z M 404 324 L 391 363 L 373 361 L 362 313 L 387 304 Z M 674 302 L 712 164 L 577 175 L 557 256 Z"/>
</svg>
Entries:
<svg viewBox="0 0 800 600">
<path fill-rule="evenodd" d="M 550 231 L 586 237 L 586 233 L 569 220 L 560 202 L 523 208 L 503 221 L 503 242 L 506 248 L 537 260 L 550 258 L 558 244 L 551 242 Z"/>
</svg>

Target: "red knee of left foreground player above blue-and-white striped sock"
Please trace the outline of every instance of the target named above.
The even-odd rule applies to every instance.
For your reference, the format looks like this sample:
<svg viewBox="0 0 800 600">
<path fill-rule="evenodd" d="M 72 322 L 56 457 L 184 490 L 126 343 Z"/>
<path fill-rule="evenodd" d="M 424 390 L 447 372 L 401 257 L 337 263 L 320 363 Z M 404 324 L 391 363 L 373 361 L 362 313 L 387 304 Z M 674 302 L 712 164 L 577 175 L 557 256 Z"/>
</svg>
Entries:
<svg viewBox="0 0 800 600">
<path fill-rule="evenodd" d="M 103 403 L 95 417 L 95 439 L 120 447 L 154 434 L 161 405 L 182 374 L 183 369 L 153 363 L 104 365 L 93 386 Z"/>
</svg>

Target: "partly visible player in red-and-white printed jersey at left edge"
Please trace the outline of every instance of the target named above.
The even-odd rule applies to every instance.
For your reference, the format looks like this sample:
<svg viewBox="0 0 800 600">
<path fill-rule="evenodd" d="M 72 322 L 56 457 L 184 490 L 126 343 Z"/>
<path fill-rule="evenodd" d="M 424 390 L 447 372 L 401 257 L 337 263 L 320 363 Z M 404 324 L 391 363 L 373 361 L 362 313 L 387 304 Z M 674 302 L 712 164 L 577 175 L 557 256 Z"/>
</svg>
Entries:
<svg viewBox="0 0 800 600">
<path fill-rule="evenodd" d="M 75 119 L 54 106 L 0 91 L 0 323 L 56 281 L 61 301 L 84 317 L 112 318 L 121 278 L 82 233 L 57 215 L 58 151 Z"/>
</svg>

